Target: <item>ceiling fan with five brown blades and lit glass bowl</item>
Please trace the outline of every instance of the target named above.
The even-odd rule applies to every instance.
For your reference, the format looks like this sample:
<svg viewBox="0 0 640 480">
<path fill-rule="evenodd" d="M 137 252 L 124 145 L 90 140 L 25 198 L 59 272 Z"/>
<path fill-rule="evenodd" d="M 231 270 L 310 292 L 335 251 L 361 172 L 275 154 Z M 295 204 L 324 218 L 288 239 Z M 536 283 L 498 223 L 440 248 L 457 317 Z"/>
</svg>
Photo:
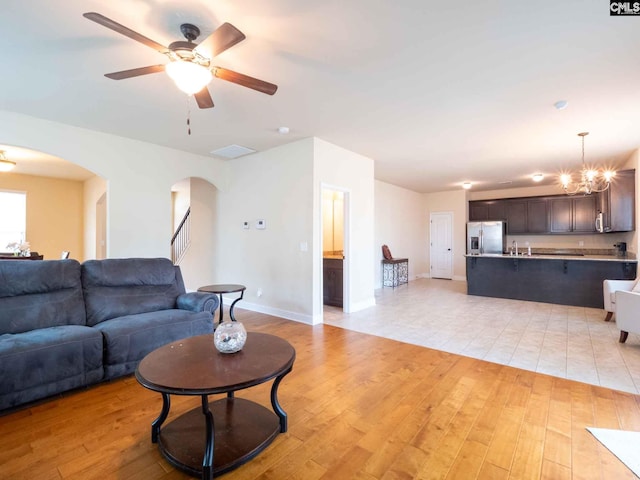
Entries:
<svg viewBox="0 0 640 480">
<path fill-rule="evenodd" d="M 211 63 L 213 57 L 245 39 L 244 34 L 230 23 L 223 23 L 200 43 L 193 42 L 200 35 L 200 29 L 190 23 L 184 23 L 180 25 L 180 31 L 187 41 L 176 41 L 165 47 L 99 13 L 87 12 L 83 16 L 147 47 L 153 48 L 166 55 L 170 60 L 166 65 L 151 65 L 149 67 L 107 73 L 105 74 L 107 78 L 123 80 L 166 71 L 167 75 L 171 77 L 180 90 L 195 97 L 200 108 L 213 107 L 213 100 L 207 89 L 207 85 L 213 77 L 252 88 L 267 95 L 273 95 L 278 89 L 278 86 L 273 83 L 218 67 Z"/>
</svg>

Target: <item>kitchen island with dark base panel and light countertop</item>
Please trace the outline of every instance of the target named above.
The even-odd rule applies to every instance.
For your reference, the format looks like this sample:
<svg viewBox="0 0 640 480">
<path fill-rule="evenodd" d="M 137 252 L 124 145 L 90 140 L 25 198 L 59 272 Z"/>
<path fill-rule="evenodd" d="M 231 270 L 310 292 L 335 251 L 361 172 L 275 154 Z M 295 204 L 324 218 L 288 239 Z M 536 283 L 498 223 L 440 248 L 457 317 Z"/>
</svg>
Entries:
<svg viewBox="0 0 640 480">
<path fill-rule="evenodd" d="M 632 254 L 465 255 L 467 294 L 603 308 L 602 282 L 634 280 Z"/>
</svg>

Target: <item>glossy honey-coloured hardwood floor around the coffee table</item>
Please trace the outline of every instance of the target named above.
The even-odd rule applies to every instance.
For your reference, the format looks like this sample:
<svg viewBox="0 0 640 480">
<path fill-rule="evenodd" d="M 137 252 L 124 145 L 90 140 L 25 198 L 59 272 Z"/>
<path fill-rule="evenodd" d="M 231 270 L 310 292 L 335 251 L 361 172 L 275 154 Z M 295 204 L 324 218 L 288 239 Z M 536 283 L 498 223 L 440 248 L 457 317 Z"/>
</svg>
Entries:
<svg viewBox="0 0 640 480">
<path fill-rule="evenodd" d="M 632 479 L 585 430 L 640 430 L 640 397 L 329 325 L 237 311 L 295 346 L 289 430 L 228 479 Z M 269 404 L 269 385 L 238 396 Z M 199 400 L 172 397 L 172 415 Z M 178 479 L 133 377 L 0 417 L 2 479 Z"/>
</svg>

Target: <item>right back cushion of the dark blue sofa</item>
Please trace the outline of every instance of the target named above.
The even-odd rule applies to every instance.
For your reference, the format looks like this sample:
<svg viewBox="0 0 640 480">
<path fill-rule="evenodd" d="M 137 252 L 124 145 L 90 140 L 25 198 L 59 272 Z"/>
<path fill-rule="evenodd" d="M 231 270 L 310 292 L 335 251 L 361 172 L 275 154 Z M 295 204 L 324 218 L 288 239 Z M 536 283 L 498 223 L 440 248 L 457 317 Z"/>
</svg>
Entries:
<svg viewBox="0 0 640 480">
<path fill-rule="evenodd" d="M 185 293 L 179 267 L 167 258 L 109 258 L 82 264 L 87 324 L 176 308 Z"/>
</svg>

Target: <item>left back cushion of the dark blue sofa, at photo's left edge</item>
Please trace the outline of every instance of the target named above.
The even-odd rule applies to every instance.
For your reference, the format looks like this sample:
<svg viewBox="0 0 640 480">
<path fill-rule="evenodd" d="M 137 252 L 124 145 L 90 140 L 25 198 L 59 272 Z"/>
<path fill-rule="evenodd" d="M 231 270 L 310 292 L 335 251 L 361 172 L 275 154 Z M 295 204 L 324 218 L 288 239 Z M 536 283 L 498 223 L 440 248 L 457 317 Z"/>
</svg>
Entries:
<svg viewBox="0 0 640 480">
<path fill-rule="evenodd" d="M 77 260 L 0 260 L 0 335 L 85 324 Z"/>
</svg>

